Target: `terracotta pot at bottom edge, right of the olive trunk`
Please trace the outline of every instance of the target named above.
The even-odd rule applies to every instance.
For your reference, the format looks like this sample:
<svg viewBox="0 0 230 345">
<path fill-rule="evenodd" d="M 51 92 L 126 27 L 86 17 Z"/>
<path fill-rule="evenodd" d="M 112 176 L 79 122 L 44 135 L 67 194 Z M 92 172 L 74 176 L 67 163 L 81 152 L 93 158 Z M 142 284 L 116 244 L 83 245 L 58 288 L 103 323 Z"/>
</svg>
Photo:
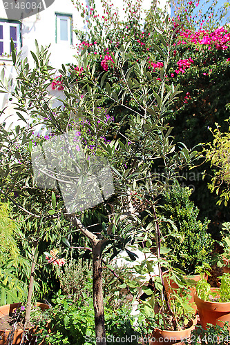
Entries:
<svg viewBox="0 0 230 345">
<path fill-rule="evenodd" d="M 149 345 L 157 345 L 157 344 L 178 344 L 184 345 L 183 339 L 189 339 L 191 335 L 191 331 L 195 328 L 196 319 L 191 320 L 189 322 L 188 328 L 184 329 L 183 331 L 161 331 L 160 329 L 156 329 L 155 332 L 149 336 L 149 340 L 147 344 Z M 145 344 L 144 340 L 142 339 L 142 345 Z"/>
</svg>

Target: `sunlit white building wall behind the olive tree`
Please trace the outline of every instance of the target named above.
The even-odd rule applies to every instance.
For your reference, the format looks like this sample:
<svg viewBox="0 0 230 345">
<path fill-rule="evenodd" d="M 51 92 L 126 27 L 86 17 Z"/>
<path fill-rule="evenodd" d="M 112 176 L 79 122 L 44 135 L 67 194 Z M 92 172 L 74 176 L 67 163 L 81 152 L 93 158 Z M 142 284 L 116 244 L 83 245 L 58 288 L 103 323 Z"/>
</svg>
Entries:
<svg viewBox="0 0 230 345">
<path fill-rule="evenodd" d="M 9 0 L 10 1 L 10 0 Z M 15 0 L 11 0 L 15 1 Z M 26 0 L 25 0 L 26 1 Z M 125 1 L 125 0 L 124 0 Z M 82 0 L 82 3 L 88 5 L 88 0 Z M 160 7 L 164 8 L 166 0 L 160 0 Z M 102 4 L 100 0 L 95 0 L 97 14 L 103 15 Z M 143 0 L 142 6 L 144 10 L 148 10 L 151 6 L 151 0 Z M 117 7 L 120 17 L 123 17 L 123 0 L 116 0 L 115 7 Z M 56 15 L 55 13 L 70 14 L 73 19 L 73 30 L 87 30 L 84 26 L 83 19 L 77 11 L 71 0 L 55 0 L 54 3 L 46 10 L 39 14 L 34 14 L 21 21 L 21 46 L 22 57 L 28 57 L 29 61 L 33 61 L 30 51 L 35 51 L 35 39 L 43 46 L 50 44 L 50 65 L 54 68 L 60 68 L 62 63 L 75 63 L 74 55 L 77 53 L 77 42 L 75 32 L 73 32 L 73 44 L 65 42 L 56 42 Z M 0 19 L 7 19 L 6 10 L 3 7 L 3 2 L 0 2 Z M 0 72 L 1 66 L 5 69 L 6 77 L 14 75 L 14 68 L 12 67 L 12 60 L 10 57 L 0 57 Z M 0 110 L 8 106 L 5 115 L 1 115 L 0 121 L 3 121 L 8 115 L 12 115 L 13 106 L 8 101 L 8 95 L 0 94 Z M 8 119 L 10 124 L 12 118 Z"/>
</svg>

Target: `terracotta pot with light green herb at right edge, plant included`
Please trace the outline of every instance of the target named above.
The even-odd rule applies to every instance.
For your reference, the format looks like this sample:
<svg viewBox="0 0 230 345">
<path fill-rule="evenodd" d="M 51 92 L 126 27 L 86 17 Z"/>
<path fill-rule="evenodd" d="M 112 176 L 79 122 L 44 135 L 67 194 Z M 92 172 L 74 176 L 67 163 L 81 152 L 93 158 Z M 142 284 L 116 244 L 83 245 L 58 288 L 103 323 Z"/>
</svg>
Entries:
<svg viewBox="0 0 230 345">
<path fill-rule="evenodd" d="M 204 279 L 196 285 L 195 304 L 198 306 L 200 323 L 204 329 L 207 324 L 223 326 L 223 322 L 230 324 L 230 274 L 221 277 L 220 288 L 211 288 Z M 229 325 L 230 330 L 230 325 Z"/>
</svg>

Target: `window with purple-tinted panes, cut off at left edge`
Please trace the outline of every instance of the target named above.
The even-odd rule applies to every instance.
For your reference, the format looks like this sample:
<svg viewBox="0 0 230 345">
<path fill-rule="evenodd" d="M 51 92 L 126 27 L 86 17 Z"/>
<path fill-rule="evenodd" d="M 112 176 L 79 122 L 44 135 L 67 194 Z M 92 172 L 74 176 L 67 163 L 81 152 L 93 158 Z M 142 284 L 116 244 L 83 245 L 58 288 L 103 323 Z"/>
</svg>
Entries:
<svg viewBox="0 0 230 345">
<path fill-rule="evenodd" d="M 11 54 L 11 39 L 15 43 L 16 50 L 19 50 L 21 48 L 20 23 L 0 19 L 0 56 Z"/>
</svg>

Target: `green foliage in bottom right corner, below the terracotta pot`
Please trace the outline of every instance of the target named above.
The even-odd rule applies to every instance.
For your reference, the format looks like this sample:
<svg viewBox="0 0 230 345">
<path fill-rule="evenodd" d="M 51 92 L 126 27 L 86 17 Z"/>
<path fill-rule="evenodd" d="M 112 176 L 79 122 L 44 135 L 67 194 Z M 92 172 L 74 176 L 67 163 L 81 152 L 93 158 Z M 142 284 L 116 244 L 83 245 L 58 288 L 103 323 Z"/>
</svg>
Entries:
<svg viewBox="0 0 230 345">
<path fill-rule="evenodd" d="M 222 326 L 207 324 L 207 329 L 197 325 L 191 332 L 190 339 L 185 339 L 186 345 L 228 345 L 230 344 L 228 322 L 223 323 Z"/>
</svg>

